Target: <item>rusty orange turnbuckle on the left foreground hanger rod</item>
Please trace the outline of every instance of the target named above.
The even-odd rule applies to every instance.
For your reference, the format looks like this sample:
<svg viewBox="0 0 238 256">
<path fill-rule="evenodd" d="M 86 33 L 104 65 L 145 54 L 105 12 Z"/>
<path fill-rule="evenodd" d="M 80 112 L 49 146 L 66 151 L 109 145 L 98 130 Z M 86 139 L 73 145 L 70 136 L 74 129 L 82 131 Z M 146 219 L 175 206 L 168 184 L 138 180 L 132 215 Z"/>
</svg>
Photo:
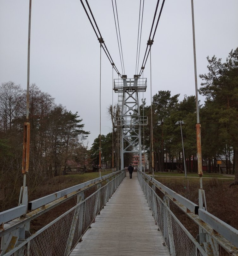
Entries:
<svg viewBox="0 0 238 256">
<path fill-rule="evenodd" d="M 24 123 L 23 131 L 23 153 L 22 153 L 22 173 L 28 173 L 30 153 L 30 123 Z"/>
</svg>

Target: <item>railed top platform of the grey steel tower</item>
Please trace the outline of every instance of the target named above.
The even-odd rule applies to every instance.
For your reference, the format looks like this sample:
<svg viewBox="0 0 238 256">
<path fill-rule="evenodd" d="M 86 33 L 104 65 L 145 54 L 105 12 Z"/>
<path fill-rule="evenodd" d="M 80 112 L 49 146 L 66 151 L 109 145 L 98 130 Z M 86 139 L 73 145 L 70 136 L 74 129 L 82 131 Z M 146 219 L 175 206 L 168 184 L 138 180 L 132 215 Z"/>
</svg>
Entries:
<svg viewBox="0 0 238 256">
<path fill-rule="evenodd" d="M 145 92 L 147 87 L 147 79 L 146 78 L 122 78 L 122 79 L 114 79 L 114 91 L 115 93 L 122 92 L 123 90 L 127 90 L 132 92 L 137 90 L 138 92 Z"/>
</svg>

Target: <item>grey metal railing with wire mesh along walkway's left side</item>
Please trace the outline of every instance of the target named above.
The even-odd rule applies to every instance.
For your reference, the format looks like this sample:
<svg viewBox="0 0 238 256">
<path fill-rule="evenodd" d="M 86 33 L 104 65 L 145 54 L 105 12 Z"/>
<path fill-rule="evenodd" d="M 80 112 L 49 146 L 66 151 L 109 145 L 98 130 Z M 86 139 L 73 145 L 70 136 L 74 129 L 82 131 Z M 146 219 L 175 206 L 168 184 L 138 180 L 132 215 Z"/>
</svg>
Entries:
<svg viewBox="0 0 238 256">
<path fill-rule="evenodd" d="M 53 201 L 51 195 L 48 195 L 30 202 L 28 207 L 33 210 L 25 216 L 19 216 L 18 219 L 2 225 L 0 255 L 69 255 L 125 176 L 125 170 L 120 170 L 62 190 L 63 192 L 59 191 L 55 193 Z M 91 188 L 96 191 L 85 198 L 85 192 Z M 61 197 L 57 198 L 57 195 Z M 30 234 L 30 221 L 75 196 L 77 196 L 77 203 L 73 208 L 34 234 Z M 6 214 L 0 213 L 1 216 L 3 220 Z"/>
</svg>

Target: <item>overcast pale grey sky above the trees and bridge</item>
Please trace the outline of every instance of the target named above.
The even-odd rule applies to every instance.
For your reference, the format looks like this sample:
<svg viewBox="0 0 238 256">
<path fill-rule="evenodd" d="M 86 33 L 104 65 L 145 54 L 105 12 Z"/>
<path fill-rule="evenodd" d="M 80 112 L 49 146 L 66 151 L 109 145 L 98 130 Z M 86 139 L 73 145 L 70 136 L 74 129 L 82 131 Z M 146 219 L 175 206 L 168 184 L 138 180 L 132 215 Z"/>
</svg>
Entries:
<svg viewBox="0 0 238 256">
<path fill-rule="evenodd" d="M 121 72 L 111 0 L 88 0 L 105 44 Z M 143 2 L 143 1 L 142 1 Z M 161 1 L 162 2 L 162 1 Z M 139 67 L 146 49 L 156 0 L 145 0 Z M 140 0 L 117 0 L 125 73 L 136 64 Z M 0 0 L 0 83 L 27 87 L 28 0 Z M 221 57 L 238 47 L 238 1 L 194 0 L 198 75 L 207 72 L 206 57 Z M 32 0 L 30 83 L 50 93 L 57 104 L 79 112 L 88 143 L 99 134 L 98 40 L 79 0 Z M 150 104 L 150 67 L 144 70 Z M 114 78 L 117 74 L 114 72 Z M 198 80 L 198 84 L 200 84 Z M 152 94 L 195 95 L 190 0 L 165 0 L 152 45 Z M 117 95 L 114 94 L 114 101 Z M 142 96 L 140 97 L 142 98 Z M 199 99 L 202 99 L 199 96 Z M 112 102 L 112 66 L 102 54 L 102 134 L 111 131 L 107 106 Z"/>
</svg>

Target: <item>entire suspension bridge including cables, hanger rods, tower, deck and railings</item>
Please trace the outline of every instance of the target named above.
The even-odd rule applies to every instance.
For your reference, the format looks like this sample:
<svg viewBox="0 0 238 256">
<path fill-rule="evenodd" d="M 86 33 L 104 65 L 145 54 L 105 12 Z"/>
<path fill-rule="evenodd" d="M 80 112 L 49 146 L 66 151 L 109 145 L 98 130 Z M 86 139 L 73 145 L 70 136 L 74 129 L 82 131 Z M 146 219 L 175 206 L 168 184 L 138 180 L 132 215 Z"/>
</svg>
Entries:
<svg viewBox="0 0 238 256">
<path fill-rule="evenodd" d="M 0 213 L 0 256 L 218 256 L 221 255 L 221 253 L 223 253 L 223 255 L 238 255 L 238 230 L 207 212 L 205 192 L 202 189 L 201 142 L 197 96 L 194 23 L 193 49 L 197 100 L 196 127 L 198 174 L 200 176 L 199 205 L 187 200 L 183 196 L 158 182 L 154 179 L 153 173 L 152 176 L 148 176 L 142 172 L 141 129 L 148 125 L 148 118 L 145 117 L 144 114 L 141 115 L 140 113 L 138 93 L 146 91 L 147 80 L 146 78 L 143 78 L 143 70 L 148 56 L 151 54 L 151 47 L 154 42 L 154 36 L 163 10 L 164 0 L 161 4 L 158 15 L 157 10 L 159 0 L 157 2 L 152 28 L 140 72 L 138 64 L 140 55 L 139 34 L 141 33 L 142 19 L 139 20 L 137 43 L 138 58 L 136 59 L 136 70 L 133 78 L 127 78 L 127 75 L 125 75 L 122 46 L 121 42 L 119 43 L 118 37 L 119 52 L 120 56 L 122 55 L 122 74 L 120 74 L 111 58 L 88 1 L 86 0 L 86 5 L 82 0 L 80 0 L 80 2 L 82 3 L 86 15 L 100 43 L 100 70 L 101 49 L 103 49 L 110 61 L 110 64 L 112 65 L 112 68 L 120 77 L 120 79 L 114 80 L 113 90 L 115 93 L 118 93 L 118 107 L 120 109 L 120 116 L 114 118 L 114 128 L 118 131 L 117 144 L 120 146 L 121 170 L 112 172 L 105 176 L 101 176 L 100 172 L 99 177 L 96 179 L 28 202 L 26 175 L 29 169 L 30 154 L 30 123 L 28 122 L 31 28 L 30 0 L 28 30 L 27 122 L 24 124 L 22 160 L 23 186 L 21 187 L 19 205 Z M 117 10 L 116 16 L 114 12 L 115 25 L 118 27 L 120 38 Z M 151 141 L 151 166 L 153 170 L 152 129 Z M 101 140 L 99 156 L 100 152 Z M 140 158 L 139 168 L 136 173 L 133 173 L 132 179 L 127 177 L 126 170 L 124 169 L 124 153 L 136 153 Z M 99 161 L 100 160 L 101 157 L 99 157 Z M 99 162 L 99 167 L 101 167 L 101 162 Z M 36 220 L 40 216 L 46 216 L 45 218 L 47 218 L 47 216 L 49 216 L 47 214 L 51 213 L 50 211 L 54 210 L 56 207 L 62 207 L 63 209 L 63 206 L 67 206 L 70 200 L 75 200 L 75 205 L 73 207 L 66 210 L 54 220 L 49 221 L 48 224 L 41 227 L 39 230 L 32 231 L 32 221 Z M 176 217 L 176 213 L 178 211 L 182 212 L 183 216 L 187 216 L 193 221 L 196 226 L 196 237 L 193 237 L 193 235 L 189 233 L 186 227 L 184 227 Z"/>
</svg>

